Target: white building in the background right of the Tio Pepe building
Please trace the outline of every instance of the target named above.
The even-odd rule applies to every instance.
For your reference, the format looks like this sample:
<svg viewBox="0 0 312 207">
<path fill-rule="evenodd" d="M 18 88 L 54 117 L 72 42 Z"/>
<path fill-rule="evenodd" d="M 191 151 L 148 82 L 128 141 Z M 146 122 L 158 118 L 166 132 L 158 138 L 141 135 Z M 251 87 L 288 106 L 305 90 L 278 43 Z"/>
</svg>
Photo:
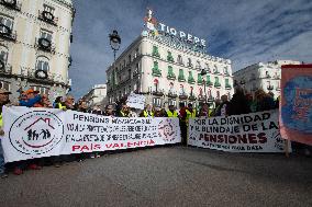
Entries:
<svg viewBox="0 0 312 207">
<path fill-rule="evenodd" d="M 282 65 L 300 65 L 300 61 L 275 60 L 258 62 L 243 68 L 233 73 L 234 85 L 242 85 L 248 93 L 254 94 L 256 90 L 272 92 L 275 97 L 280 95 L 280 72 Z"/>
</svg>

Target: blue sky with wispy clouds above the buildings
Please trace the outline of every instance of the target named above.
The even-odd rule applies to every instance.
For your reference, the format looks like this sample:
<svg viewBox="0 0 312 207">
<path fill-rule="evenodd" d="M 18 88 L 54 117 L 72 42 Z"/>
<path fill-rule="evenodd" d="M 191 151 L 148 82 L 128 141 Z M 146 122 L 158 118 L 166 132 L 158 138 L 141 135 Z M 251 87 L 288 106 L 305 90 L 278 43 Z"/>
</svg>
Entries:
<svg viewBox="0 0 312 207">
<path fill-rule="evenodd" d="M 232 60 L 236 71 L 276 59 L 312 62 L 312 0 L 73 0 L 71 93 L 107 82 L 113 62 L 109 34 L 116 30 L 120 55 L 143 31 L 146 8 L 177 31 L 207 41 L 208 54 Z"/>
</svg>

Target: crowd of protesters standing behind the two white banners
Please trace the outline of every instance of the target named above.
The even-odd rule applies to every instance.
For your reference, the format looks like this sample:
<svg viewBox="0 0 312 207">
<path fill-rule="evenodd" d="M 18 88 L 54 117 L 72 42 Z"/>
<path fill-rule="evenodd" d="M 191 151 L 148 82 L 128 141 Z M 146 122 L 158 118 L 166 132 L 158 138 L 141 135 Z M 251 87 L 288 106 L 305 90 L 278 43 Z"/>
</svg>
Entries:
<svg viewBox="0 0 312 207">
<path fill-rule="evenodd" d="M 41 95 L 38 91 L 29 89 L 21 92 L 19 103 L 11 104 L 11 93 L 4 89 L 0 89 L 0 139 L 4 138 L 3 122 L 2 122 L 2 106 L 26 106 L 26 107 L 47 107 L 47 108 L 59 108 L 59 110 L 71 110 L 82 113 L 92 113 L 103 116 L 113 117 L 178 117 L 180 120 L 181 140 L 182 143 L 187 143 L 187 128 L 188 120 L 192 117 L 213 117 L 213 116 L 230 116 L 248 114 L 253 112 L 261 112 L 278 108 L 279 99 L 275 100 L 270 93 L 265 93 L 263 90 L 255 92 L 255 95 L 245 93 L 242 88 L 237 88 L 232 100 L 229 100 L 227 95 L 222 95 L 220 100 L 215 101 L 215 104 L 210 105 L 209 103 L 202 103 L 200 107 L 194 108 L 191 103 L 185 105 L 179 104 L 179 111 L 174 105 L 169 105 L 168 110 L 161 107 L 154 107 L 152 104 L 147 104 L 144 110 L 138 111 L 131 108 L 125 102 L 119 104 L 109 104 L 104 108 L 100 105 L 88 107 L 86 100 L 80 99 L 75 102 L 73 95 L 66 97 L 58 96 L 53 103 L 48 100 L 47 95 Z M 0 142 L 1 143 L 1 142 Z M 63 163 L 70 161 L 83 161 L 87 158 L 99 158 L 101 153 L 80 153 L 80 154 L 67 154 L 58 156 L 54 158 L 33 159 L 26 161 L 19 161 L 9 164 L 9 169 L 12 169 L 13 174 L 21 175 L 23 171 L 29 170 L 41 170 L 43 165 L 49 163 L 56 168 Z M 5 168 L 3 160 L 3 150 L 0 145 L 0 176 L 8 176 L 8 169 Z"/>
</svg>

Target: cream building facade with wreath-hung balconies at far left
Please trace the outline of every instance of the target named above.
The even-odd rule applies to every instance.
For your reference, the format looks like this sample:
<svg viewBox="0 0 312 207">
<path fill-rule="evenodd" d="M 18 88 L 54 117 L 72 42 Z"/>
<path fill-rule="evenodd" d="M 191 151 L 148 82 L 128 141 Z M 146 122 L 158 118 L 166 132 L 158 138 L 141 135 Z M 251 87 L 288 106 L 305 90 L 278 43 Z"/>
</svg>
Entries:
<svg viewBox="0 0 312 207">
<path fill-rule="evenodd" d="M 71 0 L 0 1 L 0 87 L 33 88 L 51 100 L 65 95 L 71 80 Z"/>
</svg>

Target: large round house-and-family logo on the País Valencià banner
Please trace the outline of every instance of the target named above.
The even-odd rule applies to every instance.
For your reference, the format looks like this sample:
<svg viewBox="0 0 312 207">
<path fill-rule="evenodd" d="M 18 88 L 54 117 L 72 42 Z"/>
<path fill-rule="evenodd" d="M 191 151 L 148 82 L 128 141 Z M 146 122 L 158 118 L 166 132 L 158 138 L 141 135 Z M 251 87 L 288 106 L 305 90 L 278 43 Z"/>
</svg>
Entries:
<svg viewBox="0 0 312 207">
<path fill-rule="evenodd" d="M 34 111 L 20 116 L 11 126 L 11 145 L 25 154 L 43 154 L 62 140 L 64 126 L 53 113 Z"/>
</svg>

